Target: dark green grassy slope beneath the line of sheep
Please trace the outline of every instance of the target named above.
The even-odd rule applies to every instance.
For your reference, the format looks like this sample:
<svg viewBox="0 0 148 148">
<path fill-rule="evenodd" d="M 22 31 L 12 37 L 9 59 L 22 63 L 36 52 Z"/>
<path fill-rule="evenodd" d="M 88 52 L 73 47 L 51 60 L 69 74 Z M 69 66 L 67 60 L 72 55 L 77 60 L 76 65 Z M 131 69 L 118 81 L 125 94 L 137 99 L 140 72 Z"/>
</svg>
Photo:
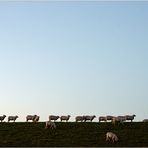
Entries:
<svg viewBox="0 0 148 148">
<path fill-rule="evenodd" d="M 148 147 L 147 123 L 60 123 L 45 129 L 45 123 L 0 123 L 0 146 L 139 146 Z M 117 134 L 117 143 L 106 142 L 105 134 Z"/>
</svg>

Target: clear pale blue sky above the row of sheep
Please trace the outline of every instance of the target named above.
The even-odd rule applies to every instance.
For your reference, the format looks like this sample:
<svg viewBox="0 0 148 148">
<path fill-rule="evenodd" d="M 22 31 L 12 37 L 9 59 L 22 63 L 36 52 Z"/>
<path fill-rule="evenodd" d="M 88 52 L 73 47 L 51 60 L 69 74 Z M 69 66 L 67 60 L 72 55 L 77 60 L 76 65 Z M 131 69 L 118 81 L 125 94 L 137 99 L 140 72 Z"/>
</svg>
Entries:
<svg viewBox="0 0 148 148">
<path fill-rule="evenodd" d="M 147 67 L 147 1 L 0 1 L 0 115 L 141 121 Z"/>
</svg>

